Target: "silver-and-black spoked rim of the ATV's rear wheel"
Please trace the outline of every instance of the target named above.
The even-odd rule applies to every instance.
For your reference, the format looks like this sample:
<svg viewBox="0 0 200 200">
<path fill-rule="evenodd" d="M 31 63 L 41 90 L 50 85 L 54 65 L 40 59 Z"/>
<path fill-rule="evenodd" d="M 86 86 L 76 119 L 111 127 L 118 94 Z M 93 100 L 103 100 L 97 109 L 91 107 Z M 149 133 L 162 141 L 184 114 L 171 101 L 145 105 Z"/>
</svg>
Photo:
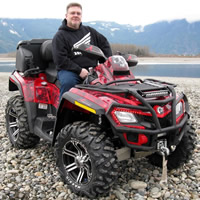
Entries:
<svg viewBox="0 0 200 200">
<path fill-rule="evenodd" d="M 8 129 L 9 134 L 14 141 L 17 141 L 19 136 L 19 125 L 16 111 L 11 108 L 8 112 Z"/>
</svg>

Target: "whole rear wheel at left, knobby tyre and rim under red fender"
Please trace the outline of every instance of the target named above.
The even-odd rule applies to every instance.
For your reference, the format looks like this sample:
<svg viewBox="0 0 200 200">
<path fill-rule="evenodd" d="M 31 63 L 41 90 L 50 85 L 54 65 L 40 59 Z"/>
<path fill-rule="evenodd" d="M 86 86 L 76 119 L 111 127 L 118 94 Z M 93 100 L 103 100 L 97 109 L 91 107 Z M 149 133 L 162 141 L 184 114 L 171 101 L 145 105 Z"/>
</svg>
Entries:
<svg viewBox="0 0 200 200">
<path fill-rule="evenodd" d="M 11 97 L 6 105 L 6 128 L 14 147 L 26 149 L 34 147 L 40 140 L 29 131 L 28 117 L 21 95 Z"/>
</svg>

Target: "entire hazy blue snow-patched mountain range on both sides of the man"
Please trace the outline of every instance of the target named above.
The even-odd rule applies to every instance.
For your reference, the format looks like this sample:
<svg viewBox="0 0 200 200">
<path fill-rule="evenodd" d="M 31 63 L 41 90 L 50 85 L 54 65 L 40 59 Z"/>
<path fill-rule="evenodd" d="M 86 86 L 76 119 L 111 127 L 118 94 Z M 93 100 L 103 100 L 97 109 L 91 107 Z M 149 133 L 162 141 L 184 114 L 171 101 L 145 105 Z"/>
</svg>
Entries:
<svg viewBox="0 0 200 200">
<path fill-rule="evenodd" d="M 61 19 L 7 19 L 0 18 L 0 53 L 15 51 L 21 40 L 52 38 Z M 142 26 L 115 22 L 84 22 L 105 35 L 110 43 L 146 46 L 156 54 L 200 54 L 200 21 L 185 19 L 161 21 Z"/>
</svg>

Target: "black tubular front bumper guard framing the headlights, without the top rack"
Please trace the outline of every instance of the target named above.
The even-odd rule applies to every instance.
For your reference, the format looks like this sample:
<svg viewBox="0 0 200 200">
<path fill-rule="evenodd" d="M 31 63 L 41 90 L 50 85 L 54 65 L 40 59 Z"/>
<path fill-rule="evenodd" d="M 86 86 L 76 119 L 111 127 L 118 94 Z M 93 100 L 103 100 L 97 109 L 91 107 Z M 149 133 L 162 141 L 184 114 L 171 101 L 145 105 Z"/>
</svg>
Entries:
<svg viewBox="0 0 200 200">
<path fill-rule="evenodd" d="M 169 87 L 172 96 L 161 101 L 146 101 L 137 93 L 134 96 L 143 104 L 143 106 L 132 106 L 113 103 L 107 111 L 107 117 L 112 124 L 112 130 L 115 135 L 118 135 L 127 147 L 138 150 L 156 150 L 157 143 L 160 140 L 167 140 L 168 146 L 177 146 L 184 135 L 184 127 L 189 119 L 189 104 L 187 97 L 182 93 L 178 98 L 174 88 Z M 177 116 L 176 106 L 182 101 L 184 109 L 181 116 Z M 171 104 L 170 112 L 164 117 L 159 117 L 155 111 L 155 105 L 162 107 L 163 105 Z M 117 124 L 114 119 L 114 109 L 129 109 L 135 110 L 134 115 L 139 119 L 136 124 Z M 145 116 L 144 113 L 149 113 Z"/>
</svg>

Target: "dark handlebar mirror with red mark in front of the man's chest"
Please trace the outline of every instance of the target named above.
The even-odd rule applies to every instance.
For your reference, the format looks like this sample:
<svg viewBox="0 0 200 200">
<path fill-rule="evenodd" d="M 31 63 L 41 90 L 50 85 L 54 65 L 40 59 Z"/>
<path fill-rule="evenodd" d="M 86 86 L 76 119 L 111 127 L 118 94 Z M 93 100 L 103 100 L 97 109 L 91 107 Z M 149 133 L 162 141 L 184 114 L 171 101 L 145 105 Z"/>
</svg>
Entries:
<svg viewBox="0 0 200 200">
<path fill-rule="evenodd" d="M 81 44 L 77 47 L 73 47 L 72 51 L 81 52 L 83 55 L 94 60 L 100 60 L 101 62 L 105 62 L 107 59 L 100 48 L 91 44 Z"/>
</svg>

